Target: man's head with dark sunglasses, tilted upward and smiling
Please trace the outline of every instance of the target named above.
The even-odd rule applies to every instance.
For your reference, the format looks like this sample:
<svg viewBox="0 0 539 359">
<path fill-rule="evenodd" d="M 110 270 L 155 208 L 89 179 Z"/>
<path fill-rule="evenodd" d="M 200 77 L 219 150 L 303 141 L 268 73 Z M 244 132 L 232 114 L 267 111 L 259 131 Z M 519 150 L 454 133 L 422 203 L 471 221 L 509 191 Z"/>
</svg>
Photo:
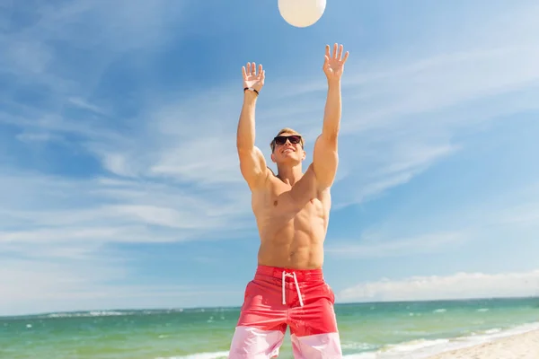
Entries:
<svg viewBox="0 0 539 359">
<path fill-rule="evenodd" d="M 292 128 L 283 128 L 270 143 L 271 160 L 279 163 L 297 164 L 305 160 L 305 140 Z"/>
</svg>

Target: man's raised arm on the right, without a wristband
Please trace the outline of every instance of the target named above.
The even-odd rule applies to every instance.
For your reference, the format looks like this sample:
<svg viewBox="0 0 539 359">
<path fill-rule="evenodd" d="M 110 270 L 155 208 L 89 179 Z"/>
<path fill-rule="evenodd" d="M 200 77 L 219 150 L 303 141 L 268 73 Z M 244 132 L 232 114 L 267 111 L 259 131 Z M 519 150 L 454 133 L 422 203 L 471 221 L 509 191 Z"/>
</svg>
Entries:
<svg viewBox="0 0 539 359">
<path fill-rule="evenodd" d="M 333 47 L 333 54 L 330 53 L 330 46 L 326 46 L 323 72 L 328 80 L 328 94 L 323 115 L 322 134 L 318 136 L 314 143 L 313 169 L 318 188 L 325 189 L 331 187 L 337 166 L 339 155 L 337 151 L 337 138 L 340 130 L 340 76 L 342 75 L 344 64 L 349 57 L 347 51 L 342 57 L 342 45 Z"/>
</svg>

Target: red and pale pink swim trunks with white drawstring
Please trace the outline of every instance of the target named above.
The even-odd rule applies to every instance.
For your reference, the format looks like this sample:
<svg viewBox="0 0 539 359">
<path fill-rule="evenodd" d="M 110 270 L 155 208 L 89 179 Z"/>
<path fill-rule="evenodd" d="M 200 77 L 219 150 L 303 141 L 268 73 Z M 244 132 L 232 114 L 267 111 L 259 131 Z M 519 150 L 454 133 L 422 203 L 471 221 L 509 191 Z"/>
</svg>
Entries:
<svg viewBox="0 0 539 359">
<path fill-rule="evenodd" d="M 257 267 L 228 358 L 277 357 L 287 327 L 296 359 L 342 358 L 334 302 L 322 269 Z"/>
</svg>

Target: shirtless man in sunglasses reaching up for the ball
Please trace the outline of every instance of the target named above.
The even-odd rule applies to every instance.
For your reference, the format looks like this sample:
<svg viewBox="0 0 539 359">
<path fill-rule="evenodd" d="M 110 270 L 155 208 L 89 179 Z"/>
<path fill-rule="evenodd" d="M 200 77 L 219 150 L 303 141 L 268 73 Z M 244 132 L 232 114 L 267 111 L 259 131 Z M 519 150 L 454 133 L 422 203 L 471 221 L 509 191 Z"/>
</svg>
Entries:
<svg viewBox="0 0 539 359">
<path fill-rule="evenodd" d="M 341 358 L 331 287 L 323 278 L 323 241 L 327 232 L 330 188 L 337 171 L 340 128 L 340 76 L 349 56 L 342 45 L 326 46 L 323 72 L 328 93 L 322 134 L 314 144 L 313 163 L 305 173 L 304 139 L 284 128 L 271 141 L 266 166 L 254 145 L 254 113 L 265 72 L 254 63 L 243 66 L 243 109 L 237 150 L 243 178 L 252 191 L 252 210 L 261 238 L 258 267 L 245 288 L 242 312 L 229 358 L 278 356 L 290 327 L 295 358 Z"/>
</svg>

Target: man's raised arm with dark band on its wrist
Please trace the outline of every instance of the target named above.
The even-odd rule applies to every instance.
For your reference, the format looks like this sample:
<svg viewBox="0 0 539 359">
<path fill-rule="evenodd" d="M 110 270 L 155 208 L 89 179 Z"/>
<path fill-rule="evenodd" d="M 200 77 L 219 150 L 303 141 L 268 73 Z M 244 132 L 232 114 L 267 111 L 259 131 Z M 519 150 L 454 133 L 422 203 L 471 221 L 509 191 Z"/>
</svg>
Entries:
<svg viewBox="0 0 539 359">
<path fill-rule="evenodd" d="M 242 67 L 243 73 L 243 107 L 238 122 L 236 147 L 240 158 L 240 170 L 243 179 L 249 188 L 259 188 L 266 178 L 268 168 L 266 160 L 261 150 L 254 145 L 255 122 L 254 114 L 258 94 L 264 85 L 265 72 L 259 66 L 256 72 L 256 65 L 248 63 L 247 69 Z"/>
</svg>

